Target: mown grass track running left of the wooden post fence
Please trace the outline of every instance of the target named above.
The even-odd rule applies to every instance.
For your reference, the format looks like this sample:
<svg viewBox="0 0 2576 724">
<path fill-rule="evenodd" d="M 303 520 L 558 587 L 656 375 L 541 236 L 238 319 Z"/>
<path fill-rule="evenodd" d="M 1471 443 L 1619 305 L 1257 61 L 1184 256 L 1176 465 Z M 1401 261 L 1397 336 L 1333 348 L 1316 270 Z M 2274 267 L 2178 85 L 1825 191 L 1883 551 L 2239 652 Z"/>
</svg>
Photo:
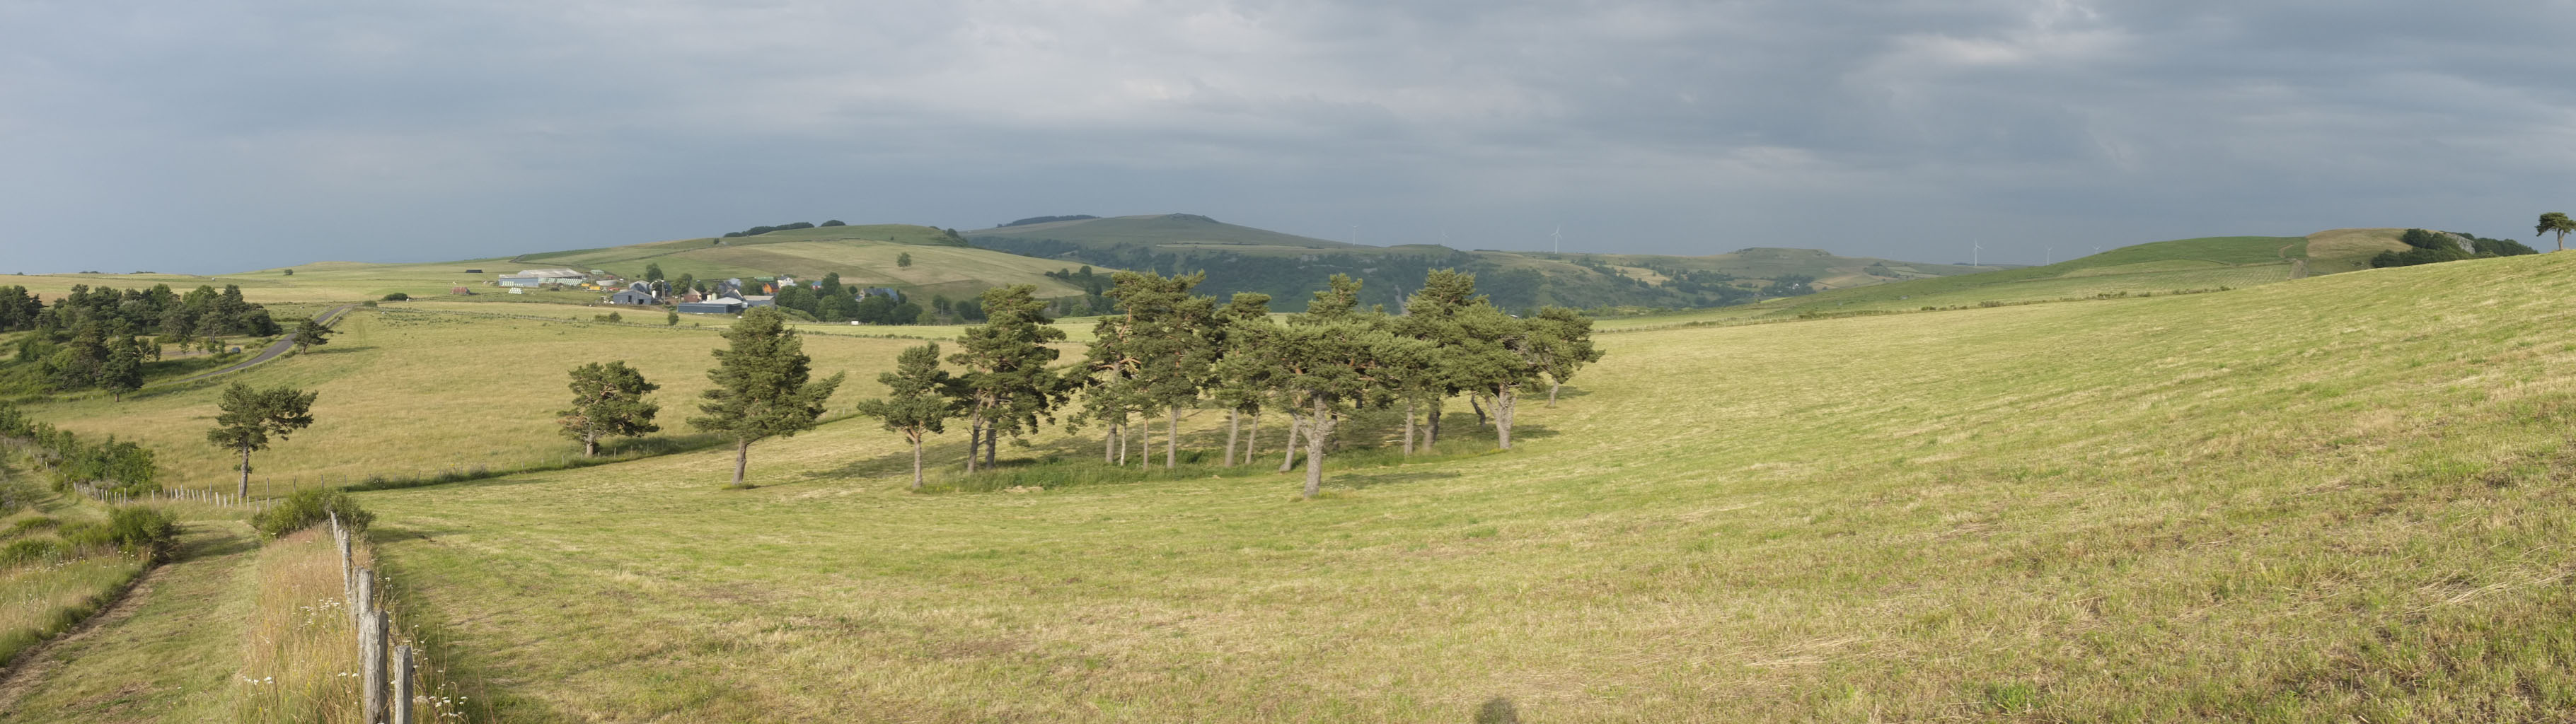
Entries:
<svg viewBox="0 0 2576 724">
<path fill-rule="evenodd" d="M 183 544 L 183 559 L 28 654 L 0 683 L 0 721 L 229 719 L 258 544 L 237 520 L 193 520 Z"/>
</svg>

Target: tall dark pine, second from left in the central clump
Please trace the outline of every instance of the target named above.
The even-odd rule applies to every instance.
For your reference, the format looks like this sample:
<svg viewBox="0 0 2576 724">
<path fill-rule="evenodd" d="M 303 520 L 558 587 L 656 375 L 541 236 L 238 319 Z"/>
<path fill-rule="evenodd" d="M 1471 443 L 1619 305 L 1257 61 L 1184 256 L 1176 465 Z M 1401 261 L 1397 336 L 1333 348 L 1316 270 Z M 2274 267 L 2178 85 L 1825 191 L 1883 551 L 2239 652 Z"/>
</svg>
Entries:
<svg viewBox="0 0 2576 724">
<path fill-rule="evenodd" d="M 976 451 L 984 464 L 994 461 L 1002 433 L 1033 433 L 1066 392 L 1066 381 L 1046 368 L 1061 353 L 1046 343 L 1064 340 L 1064 330 L 1046 325 L 1036 283 L 989 289 L 981 309 L 987 322 L 966 327 L 961 350 L 948 356 L 966 368 L 948 384 L 958 417 L 966 417 L 966 472 L 976 469 Z"/>
</svg>

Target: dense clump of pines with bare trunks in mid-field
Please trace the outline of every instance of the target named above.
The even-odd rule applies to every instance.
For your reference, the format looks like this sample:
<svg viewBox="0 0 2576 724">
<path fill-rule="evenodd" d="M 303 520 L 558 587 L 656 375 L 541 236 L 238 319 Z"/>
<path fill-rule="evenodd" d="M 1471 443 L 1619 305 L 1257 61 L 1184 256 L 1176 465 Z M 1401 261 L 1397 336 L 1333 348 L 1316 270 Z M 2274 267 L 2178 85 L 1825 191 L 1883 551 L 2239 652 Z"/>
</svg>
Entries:
<svg viewBox="0 0 2576 724">
<path fill-rule="evenodd" d="M 1218 304 L 1193 289 L 1203 273 L 1113 276 L 1105 291 L 1118 314 L 1103 317 L 1090 356 L 1069 368 L 1051 366 L 1046 304 L 1030 286 L 984 294 L 987 325 L 966 330 L 958 353 L 940 368 L 938 345 L 907 350 L 896 371 L 878 376 L 891 397 L 871 399 L 860 415 L 914 443 L 914 487 L 922 484 L 920 446 L 948 420 L 966 423 L 966 469 L 992 464 L 999 438 L 1036 433 L 1072 407 L 1069 425 L 1103 428 L 1103 459 L 1123 461 L 1131 435 L 1151 443 L 1154 417 L 1164 425 L 1164 466 L 1180 459 L 1180 417 L 1188 410 L 1226 410 L 1226 464 L 1236 464 L 1242 423 L 1260 428 L 1262 412 L 1291 420 L 1291 448 L 1306 441 L 1306 495 L 1321 487 L 1321 464 L 1334 425 L 1360 410 L 1404 407 L 1406 453 L 1440 438 L 1440 410 L 1466 394 L 1468 405 L 1512 446 L 1520 394 L 1556 386 L 1584 363 L 1592 319 L 1546 307 L 1522 319 L 1476 294 L 1476 278 L 1430 271 L 1406 296 L 1404 314 L 1360 309 L 1360 281 L 1334 276 L 1303 314 L 1273 319 L 1267 294 L 1234 294 Z M 1079 402 L 1079 405 L 1077 405 Z M 1249 456 L 1244 456 L 1249 461 Z M 1288 466 L 1283 466 L 1288 469 Z"/>
</svg>

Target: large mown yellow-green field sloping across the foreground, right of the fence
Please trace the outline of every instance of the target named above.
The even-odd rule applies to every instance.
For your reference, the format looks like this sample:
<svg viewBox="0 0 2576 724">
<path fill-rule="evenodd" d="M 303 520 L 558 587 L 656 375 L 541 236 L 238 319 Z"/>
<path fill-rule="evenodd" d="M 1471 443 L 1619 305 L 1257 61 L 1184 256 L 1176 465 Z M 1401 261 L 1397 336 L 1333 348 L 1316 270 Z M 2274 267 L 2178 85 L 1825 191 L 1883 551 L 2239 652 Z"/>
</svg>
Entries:
<svg viewBox="0 0 2576 724">
<path fill-rule="evenodd" d="M 2563 721 L 2571 294 L 2543 255 L 1605 335 L 1517 451 L 1316 502 L 907 495 L 866 420 L 757 490 L 363 502 L 513 721 Z"/>
</svg>

